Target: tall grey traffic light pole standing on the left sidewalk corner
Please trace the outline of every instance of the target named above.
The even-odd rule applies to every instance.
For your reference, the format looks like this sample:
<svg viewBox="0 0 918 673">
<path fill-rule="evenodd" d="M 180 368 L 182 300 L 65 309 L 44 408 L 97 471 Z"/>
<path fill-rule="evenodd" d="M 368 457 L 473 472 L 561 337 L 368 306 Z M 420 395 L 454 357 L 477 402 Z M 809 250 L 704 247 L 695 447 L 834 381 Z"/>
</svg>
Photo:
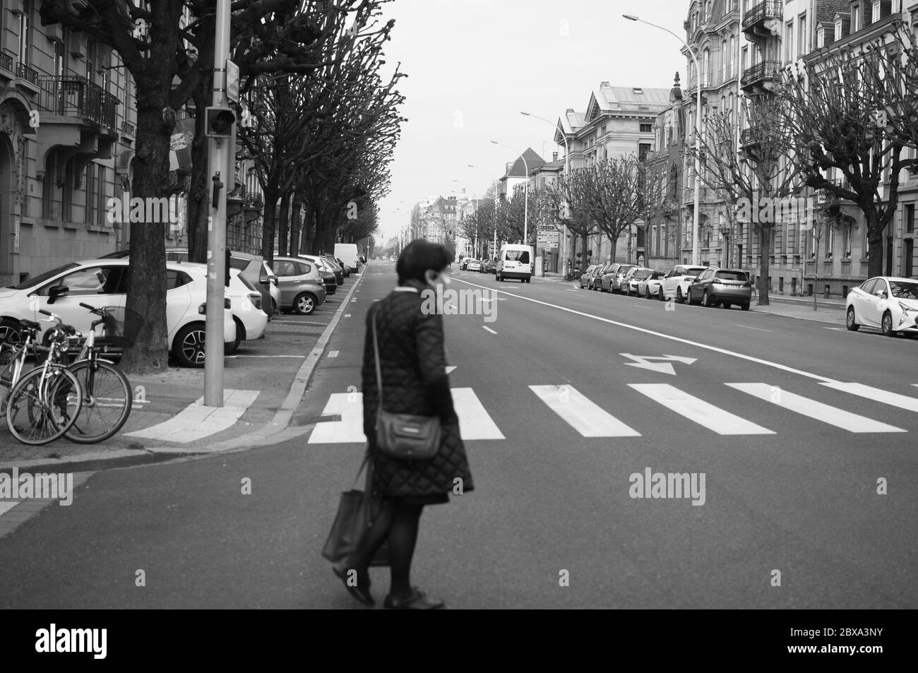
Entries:
<svg viewBox="0 0 918 673">
<path fill-rule="evenodd" d="M 229 0 L 217 0 L 217 35 L 214 41 L 215 106 L 228 106 L 227 60 L 229 59 Z M 211 176 L 210 209 L 207 217 L 207 319 L 204 355 L 204 404 L 223 406 L 223 311 L 226 276 L 226 184 L 229 139 L 207 139 L 207 174 Z"/>
</svg>

